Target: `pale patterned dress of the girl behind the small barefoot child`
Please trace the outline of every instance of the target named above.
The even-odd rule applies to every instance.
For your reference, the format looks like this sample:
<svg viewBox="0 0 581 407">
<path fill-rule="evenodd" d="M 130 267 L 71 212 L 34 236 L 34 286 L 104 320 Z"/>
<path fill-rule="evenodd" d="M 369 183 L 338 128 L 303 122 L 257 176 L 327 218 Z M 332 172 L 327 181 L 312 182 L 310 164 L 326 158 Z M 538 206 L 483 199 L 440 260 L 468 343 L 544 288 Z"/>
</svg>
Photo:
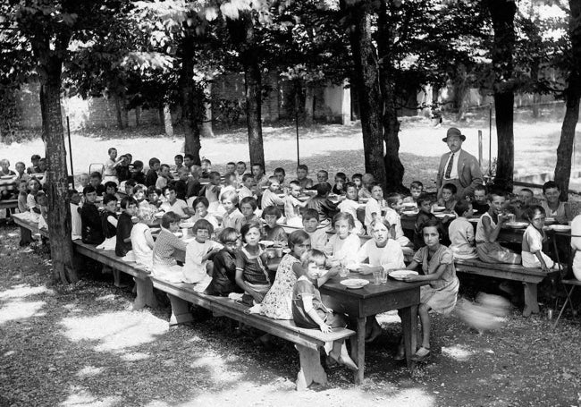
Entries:
<svg viewBox="0 0 581 407">
<path fill-rule="evenodd" d="M 268 318 L 292 319 L 292 288 L 297 283 L 297 276 L 292 266 L 299 259 L 287 254 L 276 269 L 274 284 L 261 302 L 261 312 Z"/>
</svg>

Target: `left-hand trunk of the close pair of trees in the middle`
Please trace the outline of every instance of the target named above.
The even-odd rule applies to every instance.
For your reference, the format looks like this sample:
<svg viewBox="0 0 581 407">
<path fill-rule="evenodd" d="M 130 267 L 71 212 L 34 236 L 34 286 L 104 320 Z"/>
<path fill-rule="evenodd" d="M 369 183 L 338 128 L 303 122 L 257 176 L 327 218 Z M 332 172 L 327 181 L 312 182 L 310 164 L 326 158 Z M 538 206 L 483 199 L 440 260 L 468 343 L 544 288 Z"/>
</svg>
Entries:
<svg viewBox="0 0 581 407">
<path fill-rule="evenodd" d="M 348 13 L 349 18 L 349 43 L 355 65 L 352 83 L 358 95 L 366 173 L 374 174 L 375 181 L 385 187 L 383 103 L 377 55 L 371 39 L 372 16 L 364 4 L 347 5 L 347 3 L 346 0 L 341 0 L 341 10 Z"/>
</svg>

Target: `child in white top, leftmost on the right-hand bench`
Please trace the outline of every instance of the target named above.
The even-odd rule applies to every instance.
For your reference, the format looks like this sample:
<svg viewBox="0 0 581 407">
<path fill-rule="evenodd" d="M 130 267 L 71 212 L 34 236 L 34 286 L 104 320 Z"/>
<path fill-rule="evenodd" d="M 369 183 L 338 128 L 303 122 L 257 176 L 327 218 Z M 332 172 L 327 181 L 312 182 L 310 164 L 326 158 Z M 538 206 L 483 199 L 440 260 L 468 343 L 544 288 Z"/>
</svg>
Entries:
<svg viewBox="0 0 581 407">
<path fill-rule="evenodd" d="M 474 245 L 474 226 L 467 220 L 467 216 L 472 216 L 472 205 L 467 200 L 460 199 L 454 211 L 458 217 L 451 221 L 448 228 L 450 250 L 455 259 L 478 259 Z"/>
</svg>

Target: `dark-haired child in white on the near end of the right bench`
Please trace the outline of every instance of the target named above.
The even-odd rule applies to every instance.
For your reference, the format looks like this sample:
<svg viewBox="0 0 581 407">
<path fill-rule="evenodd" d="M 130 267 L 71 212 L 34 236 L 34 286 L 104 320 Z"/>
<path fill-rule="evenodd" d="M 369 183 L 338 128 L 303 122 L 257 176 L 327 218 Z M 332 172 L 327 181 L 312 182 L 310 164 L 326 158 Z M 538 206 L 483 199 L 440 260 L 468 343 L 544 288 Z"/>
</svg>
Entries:
<svg viewBox="0 0 581 407">
<path fill-rule="evenodd" d="M 526 227 L 523 234 L 522 242 L 522 260 L 523 267 L 542 268 L 543 271 L 559 270 L 559 263 L 543 253 L 543 242 L 546 242 L 547 236 L 544 233 L 544 208 L 539 205 L 533 205 L 526 209 L 526 217 L 530 225 Z"/>
</svg>

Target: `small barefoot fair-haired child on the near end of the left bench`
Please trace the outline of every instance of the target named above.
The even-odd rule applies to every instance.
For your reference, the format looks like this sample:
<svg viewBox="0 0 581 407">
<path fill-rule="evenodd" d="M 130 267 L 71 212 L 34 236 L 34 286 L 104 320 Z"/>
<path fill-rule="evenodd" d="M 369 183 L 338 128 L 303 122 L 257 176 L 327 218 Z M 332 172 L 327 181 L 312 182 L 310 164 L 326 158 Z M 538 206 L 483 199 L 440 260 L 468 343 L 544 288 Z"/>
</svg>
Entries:
<svg viewBox="0 0 581 407">
<path fill-rule="evenodd" d="M 324 265 L 324 254 L 318 250 L 308 250 L 303 255 L 303 267 L 307 268 L 307 274 L 300 276 L 292 291 L 292 318 L 297 326 L 311 329 L 320 329 L 328 334 L 333 327 L 346 326 L 345 318 L 336 314 L 332 309 L 325 307 L 321 301 L 321 293 L 316 288 L 315 282 L 320 275 L 320 270 L 315 267 Z M 345 341 L 333 342 L 333 348 L 325 344 L 325 351 L 329 356 L 347 366 L 349 369 L 358 370 L 358 366 L 349 357 Z"/>
</svg>

